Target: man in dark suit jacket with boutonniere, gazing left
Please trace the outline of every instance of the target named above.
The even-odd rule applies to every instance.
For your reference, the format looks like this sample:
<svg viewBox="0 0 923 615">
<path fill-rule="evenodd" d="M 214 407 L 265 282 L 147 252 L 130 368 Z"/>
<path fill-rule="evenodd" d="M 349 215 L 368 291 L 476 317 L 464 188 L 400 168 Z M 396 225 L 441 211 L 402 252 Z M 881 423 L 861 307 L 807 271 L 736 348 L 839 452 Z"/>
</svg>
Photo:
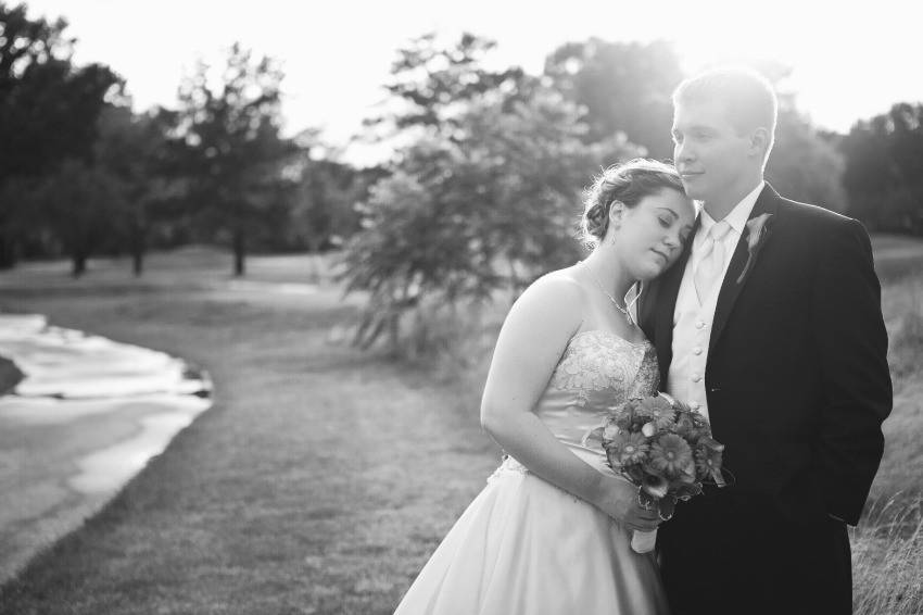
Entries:
<svg viewBox="0 0 923 615">
<path fill-rule="evenodd" d="M 777 103 L 758 74 L 700 74 L 673 105 L 675 165 L 703 211 L 640 318 L 661 387 L 709 417 L 734 476 L 660 526 L 673 615 L 848 614 L 846 525 L 892 407 L 869 236 L 763 180 Z"/>
</svg>

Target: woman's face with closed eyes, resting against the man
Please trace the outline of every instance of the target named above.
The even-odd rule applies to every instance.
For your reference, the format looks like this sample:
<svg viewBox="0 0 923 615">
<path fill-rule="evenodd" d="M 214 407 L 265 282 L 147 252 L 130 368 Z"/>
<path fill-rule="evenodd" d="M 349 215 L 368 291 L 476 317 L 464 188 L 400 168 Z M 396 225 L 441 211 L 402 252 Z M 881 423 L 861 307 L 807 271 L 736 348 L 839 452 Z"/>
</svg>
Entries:
<svg viewBox="0 0 923 615">
<path fill-rule="evenodd" d="M 616 258 L 636 279 L 652 279 L 680 258 L 695 222 L 693 202 L 665 188 L 614 214 Z"/>
</svg>

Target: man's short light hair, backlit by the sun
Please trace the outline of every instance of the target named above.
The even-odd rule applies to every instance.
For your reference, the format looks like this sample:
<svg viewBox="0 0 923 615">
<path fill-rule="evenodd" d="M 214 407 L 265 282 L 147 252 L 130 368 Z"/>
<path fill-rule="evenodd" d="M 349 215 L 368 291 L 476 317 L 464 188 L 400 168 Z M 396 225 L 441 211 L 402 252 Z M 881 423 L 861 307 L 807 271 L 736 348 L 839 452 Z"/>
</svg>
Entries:
<svg viewBox="0 0 923 615">
<path fill-rule="evenodd" d="M 769 131 L 769 147 L 775 141 L 779 99 L 769 80 L 751 68 L 722 66 L 711 68 L 683 80 L 673 90 L 673 108 L 681 103 L 724 103 L 728 118 L 739 134 L 755 128 Z"/>
</svg>

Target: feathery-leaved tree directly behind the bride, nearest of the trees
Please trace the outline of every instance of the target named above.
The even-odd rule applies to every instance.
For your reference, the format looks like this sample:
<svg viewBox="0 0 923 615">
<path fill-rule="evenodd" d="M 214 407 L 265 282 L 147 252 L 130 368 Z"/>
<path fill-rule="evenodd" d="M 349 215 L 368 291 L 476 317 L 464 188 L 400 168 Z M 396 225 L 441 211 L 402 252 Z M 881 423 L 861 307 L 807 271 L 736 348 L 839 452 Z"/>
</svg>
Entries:
<svg viewBox="0 0 923 615">
<path fill-rule="evenodd" d="M 466 70 L 481 68 L 470 63 Z M 419 91 L 437 89 L 432 75 L 423 73 Z M 347 291 L 369 292 L 361 346 L 382 334 L 396 344 L 402 321 L 416 314 L 419 325 L 425 308 L 452 312 L 579 258 L 573 231 L 581 188 L 593 168 L 637 148 L 623 136 L 586 146 L 574 104 L 524 75 L 517 80 L 523 90 L 441 100 L 432 112 L 451 113 L 451 125 L 427 124 L 397 152 L 392 174 L 372 187 L 364 229 L 345 258 Z M 418 337 L 410 350 L 423 350 L 427 341 Z"/>
</svg>

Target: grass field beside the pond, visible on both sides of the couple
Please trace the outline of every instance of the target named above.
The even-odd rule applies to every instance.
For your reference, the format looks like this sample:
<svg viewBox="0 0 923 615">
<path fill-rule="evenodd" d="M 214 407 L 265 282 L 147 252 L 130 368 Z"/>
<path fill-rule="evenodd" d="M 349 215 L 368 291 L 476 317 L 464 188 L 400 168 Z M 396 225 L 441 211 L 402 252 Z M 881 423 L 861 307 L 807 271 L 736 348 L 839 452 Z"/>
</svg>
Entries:
<svg viewBox="0 0 923 615">
<path fill-rule="evenodd" d="M 923 467 L 923 249 L 875 243 L 896 403 L 873 493 L 908 511 Z M 204 365 L 215 405 L 3 586 L 0 614 L 391 613 L 497 462 L 477 409 L 491 329 L 423 367 L 337 341 L 357 300 L 341 301 L 323 262 L 254 258 L 236 281 L 228 255 L 187 249 L 153 255 L 140 279 L 129 268 L 92 261 L 73 280 L 66 263 L 28 264 L 0 274 L 0 309 Z M 910 612 L 920 583 L 919 542 L 887 542 L 885 523 L 854 535 L 857 591 L 905 588 L 902 602 L 857 612 Z M 919 538 L 919 520 L 905 527 Z"/>
</svg>

